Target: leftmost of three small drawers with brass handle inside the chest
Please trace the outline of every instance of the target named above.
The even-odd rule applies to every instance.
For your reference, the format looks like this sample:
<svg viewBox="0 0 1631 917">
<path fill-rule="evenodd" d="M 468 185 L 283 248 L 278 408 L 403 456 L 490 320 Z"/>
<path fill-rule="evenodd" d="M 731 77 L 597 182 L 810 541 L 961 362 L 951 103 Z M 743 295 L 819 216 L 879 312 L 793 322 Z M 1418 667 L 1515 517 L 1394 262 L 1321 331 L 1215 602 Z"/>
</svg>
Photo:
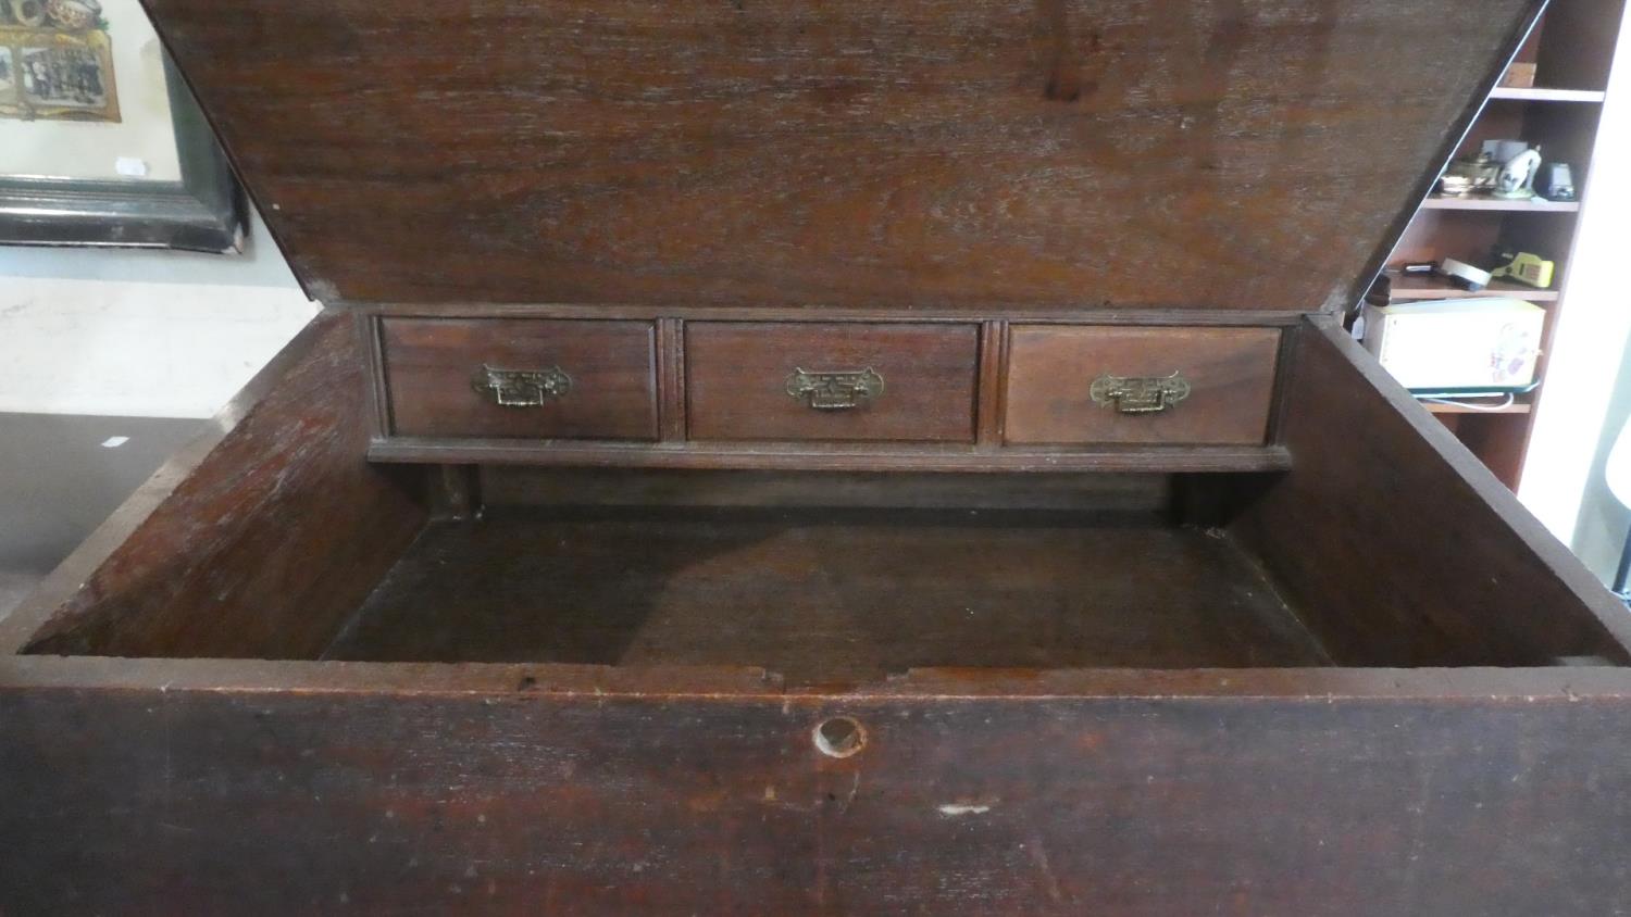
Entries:
<svg viewBox="0 0 1631 917">
<path fill-rule="evenodd" d="M 401 437 L 656 440 L 648 321 L 383 319 Z"/>
</svg>

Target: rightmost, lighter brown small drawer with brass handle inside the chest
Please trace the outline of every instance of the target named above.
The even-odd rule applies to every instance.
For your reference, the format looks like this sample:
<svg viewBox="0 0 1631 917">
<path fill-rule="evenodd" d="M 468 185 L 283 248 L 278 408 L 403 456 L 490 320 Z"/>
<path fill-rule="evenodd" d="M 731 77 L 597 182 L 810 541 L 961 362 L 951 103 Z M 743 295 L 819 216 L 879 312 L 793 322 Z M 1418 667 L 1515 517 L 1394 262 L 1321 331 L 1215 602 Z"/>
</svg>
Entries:
<svg viewBox="0 0 1631 917">
<path fill-rule="evenodd" d="M 1256 445 L 1269 427 L 1272 327 L 1014 326 L 1013 445 Z"/>
</svg>

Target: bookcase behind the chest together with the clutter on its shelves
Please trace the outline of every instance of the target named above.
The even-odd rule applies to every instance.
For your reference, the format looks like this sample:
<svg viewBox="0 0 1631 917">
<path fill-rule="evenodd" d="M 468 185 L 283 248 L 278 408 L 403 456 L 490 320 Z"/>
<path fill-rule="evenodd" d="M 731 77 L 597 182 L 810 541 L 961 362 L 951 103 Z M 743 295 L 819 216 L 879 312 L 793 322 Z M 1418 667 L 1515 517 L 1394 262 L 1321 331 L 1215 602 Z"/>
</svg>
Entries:
<svg viewBox="0 0 1631 917">
<path fill-rule="evenodd" d="M 1551 5 L 1355 318 L 1383 366 L 1417 393 L 1443 394 L 1421 402 L 1514 489 L 1623 11 L 1623 0 Z"/>
</svg>

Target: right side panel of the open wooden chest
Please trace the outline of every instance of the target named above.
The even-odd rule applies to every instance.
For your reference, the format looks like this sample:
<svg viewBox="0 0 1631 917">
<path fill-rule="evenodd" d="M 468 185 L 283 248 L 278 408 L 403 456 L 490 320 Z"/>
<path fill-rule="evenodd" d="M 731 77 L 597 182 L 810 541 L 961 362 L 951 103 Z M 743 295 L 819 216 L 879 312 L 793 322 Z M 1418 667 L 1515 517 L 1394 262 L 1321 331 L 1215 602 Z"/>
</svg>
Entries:
<svg viewBox="0 0 1631 917">
<path fill-rule="evenodd" d="M 1339 665 L 1628 661 L 1624 606 L 1341 329 L 1298 334 L 1282 435 L 1235 528 Z"/>
</svg>

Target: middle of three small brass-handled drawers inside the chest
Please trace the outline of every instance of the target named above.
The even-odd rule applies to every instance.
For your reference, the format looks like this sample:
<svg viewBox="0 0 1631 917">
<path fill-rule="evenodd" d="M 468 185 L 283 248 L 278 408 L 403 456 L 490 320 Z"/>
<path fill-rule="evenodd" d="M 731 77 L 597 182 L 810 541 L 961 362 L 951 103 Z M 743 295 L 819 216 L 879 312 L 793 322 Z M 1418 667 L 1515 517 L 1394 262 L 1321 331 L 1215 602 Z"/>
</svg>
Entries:
<svg viewBox="0 0 1631 917">
<path fill-rule="evenodd" d="M 693 440 L 974 441 L 979 326 L 692 322 Z"/>
</svg>

